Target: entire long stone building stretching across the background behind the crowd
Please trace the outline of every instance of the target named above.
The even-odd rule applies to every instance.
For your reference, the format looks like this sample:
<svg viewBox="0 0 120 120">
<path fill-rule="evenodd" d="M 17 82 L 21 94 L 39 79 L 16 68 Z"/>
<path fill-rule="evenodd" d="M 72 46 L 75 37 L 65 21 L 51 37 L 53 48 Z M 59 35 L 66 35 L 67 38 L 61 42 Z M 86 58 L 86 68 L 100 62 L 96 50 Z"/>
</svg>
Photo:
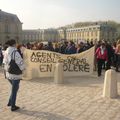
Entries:
<svg viewBox="0 0 120 120">
<path fill-rule="evenodd" d="M 23 42 L 33 41 L 99 41 L 106 40 L 113 42 L 119 34 L 116 28 L 108 24 L 97 24 L 80 28 L 60 28 L 60 29 L 43 29 L 43 30 L 23 30 Z"/>
</svg>

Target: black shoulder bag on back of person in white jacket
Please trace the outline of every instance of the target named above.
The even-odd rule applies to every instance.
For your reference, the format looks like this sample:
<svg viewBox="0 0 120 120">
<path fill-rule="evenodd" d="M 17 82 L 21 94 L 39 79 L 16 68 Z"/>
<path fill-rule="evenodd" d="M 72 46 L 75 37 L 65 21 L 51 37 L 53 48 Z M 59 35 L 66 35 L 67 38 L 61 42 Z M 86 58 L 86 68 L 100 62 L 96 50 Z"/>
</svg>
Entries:
<svg viewBox="0 0 120 120">
<path fill-rule="evenodd" d="M 16 51 L 13 51 L 11 54 L 11 61 L 9 63 L 8 72 L 14 75 L 21 75 L 22 71 L 20 70 L 19 66 L 15 62 L 15 52 Z"/>
</svg>

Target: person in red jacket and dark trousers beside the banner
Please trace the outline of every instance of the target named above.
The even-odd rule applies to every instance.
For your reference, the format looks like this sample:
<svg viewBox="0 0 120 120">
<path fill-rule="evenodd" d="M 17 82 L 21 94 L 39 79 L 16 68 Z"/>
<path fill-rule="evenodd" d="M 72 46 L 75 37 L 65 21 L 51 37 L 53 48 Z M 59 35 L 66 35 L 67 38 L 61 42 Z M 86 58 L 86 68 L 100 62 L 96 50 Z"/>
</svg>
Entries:
<svg viewBox="0 0 120 120">
<path fill-rule="evenodd" d="M 97 58 L 97 72 L 98 76 L 101 76 L 102 72 L 102 66 L 107 61 L 108 56 L 107 56 L 107 49 L 105 47 L 105 43 L 102 43 L 100 47 L 97 48 L 95 52 L 96 58 Z"/>
</svg>

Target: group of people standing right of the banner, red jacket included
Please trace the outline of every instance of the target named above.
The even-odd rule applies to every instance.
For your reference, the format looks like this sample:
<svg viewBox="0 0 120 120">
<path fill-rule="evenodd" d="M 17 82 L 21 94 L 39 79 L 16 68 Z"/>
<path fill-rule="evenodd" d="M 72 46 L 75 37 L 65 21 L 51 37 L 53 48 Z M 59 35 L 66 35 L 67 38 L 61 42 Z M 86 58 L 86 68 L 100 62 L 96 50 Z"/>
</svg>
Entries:
<svg viewBox="0 0 120 120">
<path fill-rule="evenodd" d="M 101 76 L 102 69 L 115 67 L 116 72 L 120 72 L 120 40 L 113 44 L 107 41 L 99 41 L 95 49 L 98 76 Z"/>
</svg>

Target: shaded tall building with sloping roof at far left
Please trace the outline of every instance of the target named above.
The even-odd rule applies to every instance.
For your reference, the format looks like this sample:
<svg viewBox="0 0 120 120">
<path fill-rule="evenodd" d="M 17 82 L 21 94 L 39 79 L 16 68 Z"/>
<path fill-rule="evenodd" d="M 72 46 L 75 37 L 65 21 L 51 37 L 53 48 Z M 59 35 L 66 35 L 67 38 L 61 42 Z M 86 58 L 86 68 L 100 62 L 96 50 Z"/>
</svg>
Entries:
<svg viewBox="0 0 120 120">
<path fill-rule="evenodd" d="M 0 10 L 0 44 L 4 44 L 9 39 L 21 42 L 22 23 L 17 15 Z"/>
</svg>

